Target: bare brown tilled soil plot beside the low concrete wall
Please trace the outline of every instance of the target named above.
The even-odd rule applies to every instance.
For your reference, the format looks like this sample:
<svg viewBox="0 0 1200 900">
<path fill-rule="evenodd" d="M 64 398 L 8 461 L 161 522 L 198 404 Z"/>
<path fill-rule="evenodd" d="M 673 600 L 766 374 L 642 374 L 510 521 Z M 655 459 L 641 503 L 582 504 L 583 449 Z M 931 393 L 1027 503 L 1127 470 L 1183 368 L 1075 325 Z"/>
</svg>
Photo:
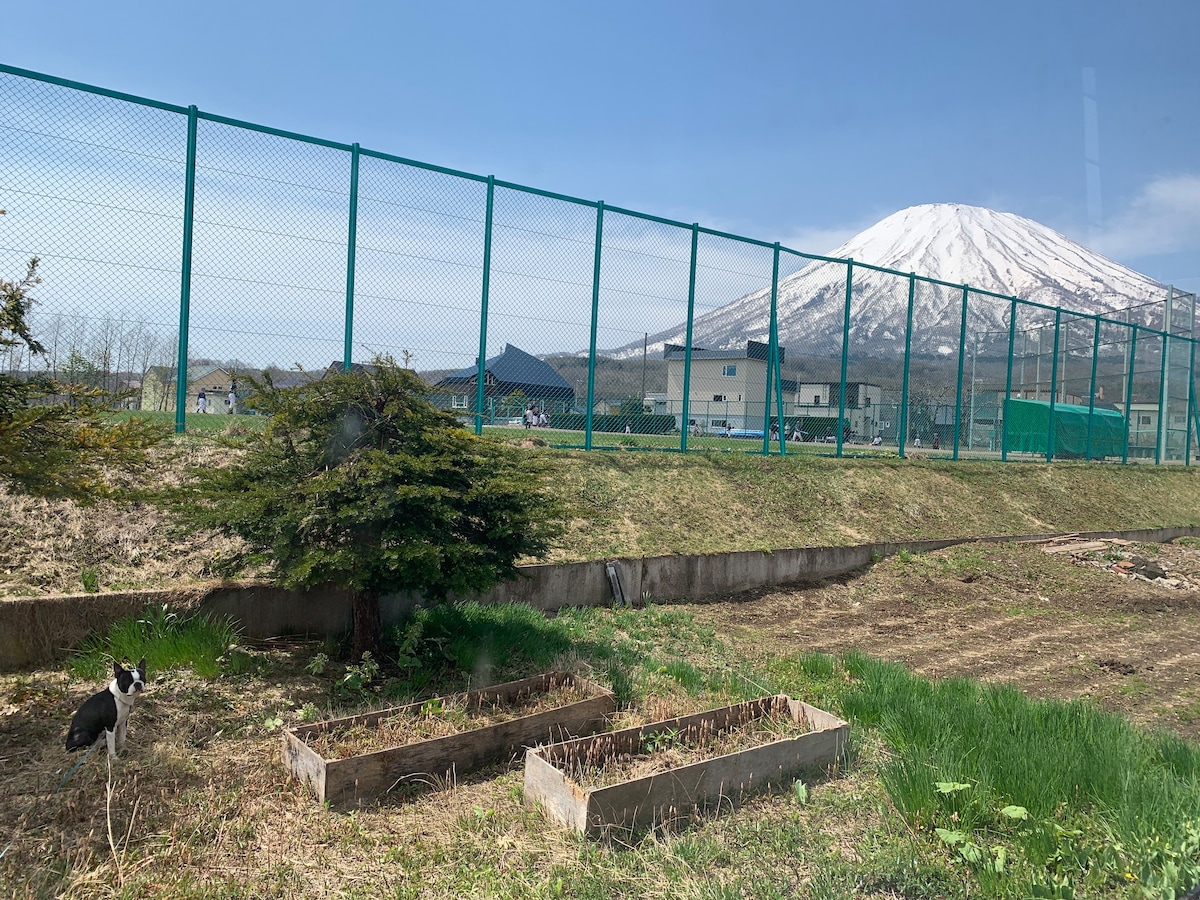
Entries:
<svg viewBox="0 0 1200 900">
<path fill-rule="evenodd" d="M 1138 547 L 1169 576 L 1200 570 L 1189 547 Z M 1121 577 L 1100 554 L 1032 545 L 955 547 L 850 578 L 697 607 L 750 655 L 860 649 L 930 677 L 1009 682 L 1090 697 L 1200 739 L 1200 590 Z M 731 600 L 733 598 L 730 598 Z"/>
</svg>

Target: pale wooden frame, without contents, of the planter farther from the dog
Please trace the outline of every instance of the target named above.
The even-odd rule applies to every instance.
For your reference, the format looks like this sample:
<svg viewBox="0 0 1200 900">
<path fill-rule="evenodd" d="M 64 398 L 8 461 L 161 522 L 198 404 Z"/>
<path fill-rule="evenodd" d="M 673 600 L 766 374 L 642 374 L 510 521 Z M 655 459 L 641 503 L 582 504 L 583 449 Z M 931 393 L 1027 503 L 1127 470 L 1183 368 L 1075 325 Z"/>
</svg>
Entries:
<svg viewBox="0 0 1200 900">
<path fill-rule="evenodd" d="M 811 731 L 749 750 L 716 756 L 606 787 L 584 788 L 566 774 L 576 760 L 637 754 L 648 737 L 673 732 L 686 739 L 702 728 L 724 731 L 767 715 L 787 715 Z M 838 762 L 850 725 L 835 715 L 785 695 L 710 709 L 623 731 L 581 737 L 530 749 L 526 754 L 524 797 L 552 818 L 588 835 L 611 828 L 638 829 L 670 823 L 714 803 L 739 805 L 751 792 L 780 786 L 804 769 Z"/>
</svg>

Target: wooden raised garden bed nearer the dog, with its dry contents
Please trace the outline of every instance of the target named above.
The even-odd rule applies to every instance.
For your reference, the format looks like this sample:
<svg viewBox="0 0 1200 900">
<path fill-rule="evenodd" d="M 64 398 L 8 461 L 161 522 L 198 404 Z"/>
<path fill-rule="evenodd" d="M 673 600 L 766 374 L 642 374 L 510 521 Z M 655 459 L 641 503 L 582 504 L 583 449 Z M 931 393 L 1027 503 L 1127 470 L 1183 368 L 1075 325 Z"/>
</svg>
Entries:
<svg viewBox="0 0 1200 900">
<path fill-rule="evenodd" d="M 594 734 L 614 708 L 604 688 L 551 672 L 284 728 L 283 762 L 318 800 L 358 802 L 406 780 L 446 784 L 526 746 Z"/>
</svg>

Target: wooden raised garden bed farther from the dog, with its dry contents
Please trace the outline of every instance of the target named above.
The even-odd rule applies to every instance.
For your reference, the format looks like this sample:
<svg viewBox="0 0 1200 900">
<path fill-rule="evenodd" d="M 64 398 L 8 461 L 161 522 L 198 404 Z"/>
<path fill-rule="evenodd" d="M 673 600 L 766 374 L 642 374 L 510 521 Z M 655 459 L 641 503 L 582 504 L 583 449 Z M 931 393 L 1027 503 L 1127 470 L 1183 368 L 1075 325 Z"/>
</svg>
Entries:
<svg viewBox="0 0 1200 900">
<path fill-rule="evenodd" d="M 762 697 L 532 749 L 524 796 L 584 834 L 670 824 L 836 762 L 848 734 L 816 707 Z"/>
</svg>

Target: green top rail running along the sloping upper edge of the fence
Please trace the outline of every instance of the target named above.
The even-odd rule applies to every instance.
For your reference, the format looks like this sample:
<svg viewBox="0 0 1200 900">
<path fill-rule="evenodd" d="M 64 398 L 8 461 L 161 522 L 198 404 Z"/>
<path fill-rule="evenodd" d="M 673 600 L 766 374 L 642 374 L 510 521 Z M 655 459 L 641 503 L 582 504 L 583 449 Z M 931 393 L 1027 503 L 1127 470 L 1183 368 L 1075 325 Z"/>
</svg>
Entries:
<svg viewBox="0 0 1200 900">
<path fill-rule="evenodd" d="M 42 72 L 34 72 L 34 71 L 28 70 L 28 68 L 20 68 L 18 66 L 10 66 L 10 65 L 6 65 L 4 62 L 0 62 L 0 73 L 7 73 L 7 74 L 12 74 L 12 76 L 19 77 L 19 78 L 28 78 L 30 80 L 43 82 L 43 83 L 47 83 L 47 84 L 56 84 L 56 85 L 60 85 L 62 88 L 70 88 L 72 90 L 84 91 L 86 94 L 96 94 L 98 96 L 110 97 L 113 100 L 119 100 L 119 101 L 124 101 L 124 102 L 128 102 L 128 103 L 136 103 L 138 106 L 152 107 L 155 109 L 162 109 L 162 110 L 166 110 L 166 112 L 169 112 L 169 113 L 178 113 L 178 114 L 185 115 L 185 116 L 191 115 L 192 114 L 192 109 L 193 109 L 192 107 L 184 107 L 184 106 L 179 106 L 179 104 L 175 104 L 175 103 L 164 103 L 162 101 L 150 100 L 148 97 L 139 97 L 139 96 L 137 96 L 134 94 L 125 94 L 122 91 L 114 91 L 114 90 L 109 90 L 107 88 L 100 88 L 97 85 L 85 84 L 83 82 L 74 82 L 74 80 L 71 80 L 71 79 L 67 79 L 67 78 L 59 78 L 56 76 L 44 74 Z M 245 121 L 245 120 L 240 120 L 240 119 L 232 119 L 229 116 L 217 115 L 216 113 L 205 113 L 203 110 L 198 110 L 197 109 L 196 110 L 196 115 L 199 119 L 204 119 L 206 121 L 216 122 L 216 124 L 220 124 L 220 125 L 228 125 L 228 126 L 236 127 L 236 128 L 246 128 L 248 131 L 256 131 L 256 132 L 259 132 L 259 133 L 263 133 L 263 134 L 272 134 L 272 136 L 281 137 L 281 138 L 287 138 L 287 139 L 290 139 L 290 140 L 300 140 L 300 142 L 304 142 L 304 143 L 308 143 L 308 144 L 316 144 L 318 146 L 326 146 L 326 148 L 330 148 L 330 149 L 334 149 L 334 150 L 342 150 L 342 151 L 346 151 L 346 152 L 353 152 L 354 149 L 355 149 L 354 144 L 347 144 L 347 143 L 342 143 L 342 142 L 337 142 L 337 140 L 326 140 L 325 138 L 318 138 L 318 137 L 313 137 L 311 134 L 302 134 L 300 132 L 286 131 L 286 130 L 282 130 L 282 128 L 274 128 L 274 127 L 266 126 L 266 125 L 256 125 L 254 122 L 250 122 L 250 121 Z M 766 247 L 768 250 L 775 250 L 778 247 L 778 250 L 780 252 L 790 253 L 792 256 L 802 257 L 804 259 L 810 259 L 810 260 L 814 260 L 814 262 L 839 263 L 841 265 L 847 265 L 847 266 L 853 265 L 853 266 L 859 268 L 859 269 L 868 269 L 868 270 L 871 270 L 871 271 L 883 272 L 886 275 L 895 275 L 895 276 L 899 276 L 901 278 L 917 280 L 917 281 L 925 282 L 928 284 L 938 284 L 938 286 L 942 286 L 942 287 L 954 288 L 954 289 L 958 289 L 958 290 L 966 290 L 966 292 L 970 292 L 970 293 L 979 294 L 982 296 L 991 296 L 991 298 L 995 298 L 997 300 L 1015 301 L 1015 302 L 1019 302 L 1019 304 L 1024 304 L 1025 306 L 1031 306 L 1031 307 L 1045 310 L 1048 312 L 1062 311 L 1062 312 L 1064 312 L 1067 314 L 1070 314 L 1070 316 L 1075 316 L 1075 317 L 1080 317 L 1080 318 L 1090 318 L 1090 319 L 1093 319 L 1093 320 L 1096 320 L 1098 323 L 1103 323 L 1103 324 L 1108 324 L 1108 325 L 1121 325 L 1122 328 L 1132 328 L 1132 329 L 1139 330 L 1139 331 L 1141 331 L 1141 332 L 1144 332 L 1146 335 L 1159 335 L 1159 336 L 1163 336 L 1163 337 L 1171 337 L 1174 340 L 1182 340 L 1182 341 L 1188 341 L 1188 342 L 1193 342 L 1193 343 L 1195 341 L 1200 340 L 1200 338 L 1195 338 L 1195 337 L 1184 337 L 1182 335 L 1171 335 L 1168 331 L 1159 331 L 1157 329 L 1148 328 L 1147 325 L 1140 325 L 1138 323 L 1120 322 L 1117 319 L 1109 318 L 1109 317 L 1106 317 L 1104 314 L 1092 314 L 1092 313 L 1078 312 L 1078 311 L 1074 311 L 1074 310 L 1064 310 L 1063 307 L 1060 307 L 1060 306 L 1051 306 L 1049 304 L 1042 304 L 1042 302 L 1037 302 L 1034 300 L 1025 300 L 1025 299 L 1021 299 L 1021 298 L 1018 298 L 1018 296 L 1012 296 L 1012 295 L 1008 295 L 1008 294 L 1000 294 L 1000 293 L 994 292 L 994 290 L 986 290 L 984 288 L 972 287 L 971 284 L 956 284 L 954 282 L 943 281 L 941 278 L 932 278 L 932 277 L 929 277 L 929 276 L 925 276 L 925 275 L 917 275 L 914 272 L 901 272 L 901 271 L 899 271 L 896 269 L 889 269 L 889 268 L 882 266 L 882 265 L 874 265 L 871 263 L 863 263 L 863 262 L 854 260 L 854 259 L 844 259 L 844 258 L 840 258 L 840 257 L 826 257 L 826 256 L 820 256 L 820 254 L 816 254 L 816 253 L 805 253 L 803 251 L 792 250 L 791 247 L 780 246 L 778 242 L 770 242 L 770 241 L 758 240 L 756 238 L 746 238 L 745 235 L 731 234 L 728 232 L 721 232 L 721 230 L 718 230 L 715 228 L 706 228 L 706 227 L 696 224 L 696 223 L 679 222 L 679 221 L 676 221 L 676 220 L 672 220 L 672 218 L 666 218 L 666 217 L 662 217 L 662 216 L 655 216 L 655 215 L 652 215 L 652 214 L 648 214 L 648 212 L 638 212 L 637 210 L 624 209 L 622 206 L 608 206 L 602 200 L 587 200 L 587 199 L 583 199 L 581 197 L 571 197 L 570 194 L 557 193 L 554 191 L 545 191 L 542 188 L 530 187 L 528 185 L 521 185 L 521 184 L 517 184 L 517 182 L 514 182 L 514 181 L 502 181 L 502 180 L 496 179 L 496 178 L 490 178 L 490 176 L 486 176 L 486 175 L 478 175 L 478 174 L 473 174 L 473 173 L 469 173 L 469 172 L 462 172 L 460 169 L 452 169 L 452 168 L 448 168 L 445 166 L 437 166 L 434 163 L 420 162 L 419 160 L 409 160 L 409 158 L 406 158 L 406 157 L 402 157 L 402 156 L 395 156 L 392 154 L 385 154 L 385 152 L 379 151 L 379 150 L 371 150 L 371 149 L 367 149 L 367 148 L 359 148 L 359 154 L 361 156 L 370 156 L 370 157 L 373 157 L 373 158 L 377 158 L 377 160 L 383 160 L 385 162 L 395 162 L 395 163 L 398 163 L 398 164 L 402 164 L 402 166 L 412 166 L 414 168 L 426 169 L 428 172 L 439 172 L 439 173 L 445 174 L 445 175 L 452 175 L 452 176 L 456 176 L 456 178 L 468 179 L 468 180 L 472 180 L 472 181 L 482 181 L 482 182 L 492 181 L 497 187 L 505 187 L 505 188 L 509 188 L 509 190 L 512 190 L 512 191 L 520 191 L 522 193 L 538 194 L 540 197 L 547 197 L 550 199 L 562 200 L 564 203 L 572 203 L 572 204 L 577 204 L 577 205 L 582 205 L 582 206 L 590 206 L 593 209 L 598 209 L 600 206 L 604 206 L 610 212 L 614 212 L 614 214 L 618 214 L 618 215 L 632 216 L 632 217 L 646 220 L 646 221 L 649 221 L 649 222 L 658 222 L 660 224 L 666 224 L 666 226 L 672 226 L 672 227 L 676 227 L 676 228 L 683 228 L 683 229 L 688 229 L 688 230 L 694 230 L 696 233 L 708 234 L 708 235 L 712 235 L 714 238 L 725 238 L 727 240 L 738 241 L 740 244 L 750 244 L 750 245 L 758 246 L 758 247 Z"/>
</svg>

